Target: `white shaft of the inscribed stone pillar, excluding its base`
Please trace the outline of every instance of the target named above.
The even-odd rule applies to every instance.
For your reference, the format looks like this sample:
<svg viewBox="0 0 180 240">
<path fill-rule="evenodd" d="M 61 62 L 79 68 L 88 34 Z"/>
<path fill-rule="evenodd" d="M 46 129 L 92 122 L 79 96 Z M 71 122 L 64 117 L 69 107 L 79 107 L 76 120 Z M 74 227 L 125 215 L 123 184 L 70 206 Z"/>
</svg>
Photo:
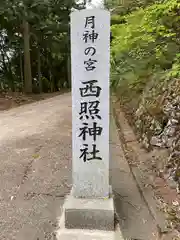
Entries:
<svg viewBox="0 0 180 240">
<path fill-rule="evenodd" d="M 88 18 L 89 24 L 85 28 L 86 17 L 95 17 L 95 26 L 90 24 L 92 19 Z M 83 40 L 85 31 L 98 34 L 97 39 L 92 42 L 88 38 L 87 43 Z M 97 36 L 97 35 L 95 35 Z M 96 53 L 90 47 L 96 49 Z M 87 48 L 89 48 L 87 50 Z M 85 51 L 86 49 L 86 51 Z M 89 52 L 89 54 L 87 54 Z M 86 54 L 87 55 L 86 55 Z M 91 56 L 93 55 L 93 56 Z M 92 71 L 86 71 L 88 64 L 84 61 L 96 60 Z M 73 189 L 74 196 L 79 198 L 104 198 L 109 196 L 109 71 L 110 71 L 110 13 L 102 9 L 75 11 L 71 14 L 71 64 L 72 64 L 72 124 L 73 124 Z M 81 97 L 80 88 L 86 87 L 82 82 L 97 80 L 93 86 L 100 87 L 99 96 Z M 96 92 L 96 89 L 93 89 Z M 89 90 L 88 90 L 89 93 Z M 98 115 L 101 119 L 80 120 L 81 104 L 99 101 Z M 92 106 L 91 106 L 92 109 Z M 89 114 L 89 112 L 88 112 Z M 92 136 L 85 141 L 78 137 L 83 123 L 92 128 L 93 124 L 102 128 L 101 136 L 97 136 L 94 142 Z M 98 157 L 102 160 L 88 160 L 84 162 L 80 155 L 83 144 L 88 144 L 88 151 L 92 152 L 93 144 L 96 144 Z M 85 146 L 84 146 L 85 148 Z M 88 158 L 92 155 L 89 154 Z"/>
</svg>

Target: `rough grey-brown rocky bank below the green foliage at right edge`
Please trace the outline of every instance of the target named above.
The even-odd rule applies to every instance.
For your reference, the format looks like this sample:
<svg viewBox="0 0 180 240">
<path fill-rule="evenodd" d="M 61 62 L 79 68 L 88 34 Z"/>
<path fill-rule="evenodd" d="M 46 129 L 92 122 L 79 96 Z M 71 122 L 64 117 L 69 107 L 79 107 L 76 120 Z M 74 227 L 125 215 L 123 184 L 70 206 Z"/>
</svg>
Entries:
<svg viewBox="0 0 180 240">
<path fill-rule="evenodd" d="M 159 81 L 147 86 L 135 113 L 135 126 L 146 149 L 166 148 L 167 178 L 180 191 L 180 79 Z"/>
</svg>

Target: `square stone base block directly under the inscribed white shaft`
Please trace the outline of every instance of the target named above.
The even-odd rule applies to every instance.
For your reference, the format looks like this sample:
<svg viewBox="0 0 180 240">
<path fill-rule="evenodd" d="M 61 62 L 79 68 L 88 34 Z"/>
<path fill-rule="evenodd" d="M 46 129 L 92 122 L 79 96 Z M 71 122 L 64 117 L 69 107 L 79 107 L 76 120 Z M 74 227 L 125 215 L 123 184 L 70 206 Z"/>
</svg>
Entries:
<svg viewBox="0 0 180 240">
<path fill-rule="evenodd" d="M 81 199 L 71 193 L 64 204 L 65 228 L 114 231 L 114 202 Z"/>
</svg>

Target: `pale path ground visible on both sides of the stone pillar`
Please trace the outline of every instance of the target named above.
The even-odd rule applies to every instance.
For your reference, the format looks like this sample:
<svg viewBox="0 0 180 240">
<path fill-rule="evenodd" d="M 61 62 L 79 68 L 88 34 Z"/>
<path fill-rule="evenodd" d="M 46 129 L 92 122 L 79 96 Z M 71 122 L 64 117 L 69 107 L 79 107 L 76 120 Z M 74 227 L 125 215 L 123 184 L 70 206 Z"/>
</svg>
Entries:
<svg viewBox="0 0 180 240">
<path fill-rule="evenodd" d="M 111 121 L 111 183 L 124 239 L 153 240 L 153 222 Z M 0 113 L 0 240 L 55 240 L 71 189 L 71 96 Z M 63 239 L 62 239 L 63 240 Z"/>
</svg>

